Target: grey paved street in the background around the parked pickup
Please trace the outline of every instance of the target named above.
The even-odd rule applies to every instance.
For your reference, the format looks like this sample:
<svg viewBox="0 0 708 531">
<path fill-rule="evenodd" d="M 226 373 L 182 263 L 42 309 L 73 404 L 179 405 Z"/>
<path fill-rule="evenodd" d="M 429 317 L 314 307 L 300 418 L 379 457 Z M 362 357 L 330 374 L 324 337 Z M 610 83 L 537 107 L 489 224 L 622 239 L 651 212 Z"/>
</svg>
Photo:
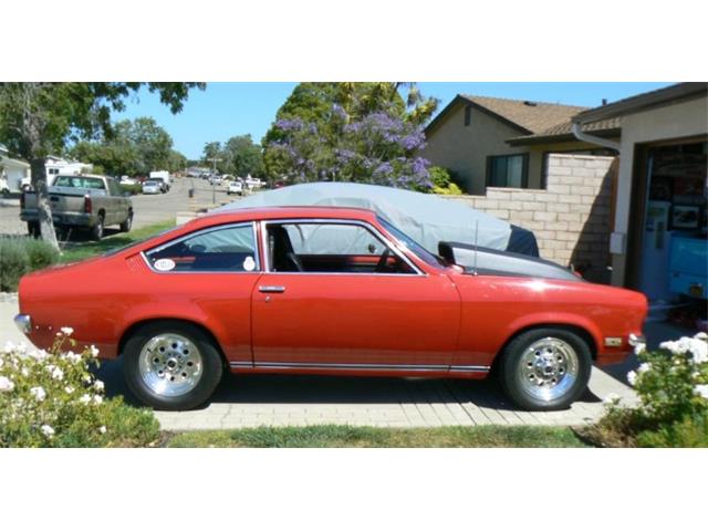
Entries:
<svg viewBox="0 0 708 531">
<path fill-rule="evenodd" d="M 194 184 L 195 195 L 189 198 L 189 189 Z M 167 194 L 156 196 L 133 196 L 135 218 L 133 228 L 145 227 L 158 221 L 175 219 L 177 212 L 208 208 L 214 205 L 238 199 L 238 196 L 227 196 L 225 187 L 212 187 L 202 179 L 175 179 Z M 106 235 L 116 232 L 115 227 L 107 228 Z M 0 199 L 0 235 L 27 235 L 27 225 L 20 221 L 20 200 Z"/>
</svg>

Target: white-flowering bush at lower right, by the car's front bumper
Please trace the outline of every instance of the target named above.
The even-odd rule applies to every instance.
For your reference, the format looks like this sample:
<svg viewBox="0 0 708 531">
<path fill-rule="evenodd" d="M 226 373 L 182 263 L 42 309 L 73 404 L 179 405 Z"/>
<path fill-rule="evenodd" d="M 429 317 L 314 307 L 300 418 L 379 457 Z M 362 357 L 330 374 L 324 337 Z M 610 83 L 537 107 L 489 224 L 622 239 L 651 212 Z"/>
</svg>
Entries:
<svg viewBox="0 0 708 531">
<path fill-rule="evenodd" d="M 708 446 L 708 335 L 666 341 L 637 351 L 639 367 L 627 374 L 639 404 L 611 399 L 601 431 L 628 446 Z"/>
</svg>

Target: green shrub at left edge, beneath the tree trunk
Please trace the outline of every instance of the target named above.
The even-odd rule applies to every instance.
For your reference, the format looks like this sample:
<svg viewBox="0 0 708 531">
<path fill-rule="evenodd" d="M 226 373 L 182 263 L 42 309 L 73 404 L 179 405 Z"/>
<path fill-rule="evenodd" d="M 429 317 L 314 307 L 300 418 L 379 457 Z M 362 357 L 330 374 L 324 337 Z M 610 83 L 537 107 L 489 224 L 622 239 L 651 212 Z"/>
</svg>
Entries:
<svg viewBox="0 0 708 531">
<path fill-rule="evenodd" d="M 15 291 L 20 278 L 59 261 L 59 251 L 28 237 L 0 238 L 0 291 Z"/>
</svg>

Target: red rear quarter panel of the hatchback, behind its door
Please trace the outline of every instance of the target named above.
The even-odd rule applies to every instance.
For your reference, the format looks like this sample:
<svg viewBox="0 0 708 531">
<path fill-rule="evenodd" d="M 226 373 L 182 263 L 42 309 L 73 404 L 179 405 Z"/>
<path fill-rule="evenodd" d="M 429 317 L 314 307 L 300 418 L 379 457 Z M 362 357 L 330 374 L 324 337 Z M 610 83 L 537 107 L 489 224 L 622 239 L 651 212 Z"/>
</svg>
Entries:
<svg viewBox="0 0 708 531">
<path fill-rule="evenodd" d="M 62 326 L 79 348 L 118 355 L 133 325 L 179 319 L 210 331 L 229 361 L 251 361 L 250 299 L 260 273 L 157 273 L 142 256 L 93 259 L 25 275 L 20 312 L 32 316 L 30 340 L 49 347 Z"/>
</svg>

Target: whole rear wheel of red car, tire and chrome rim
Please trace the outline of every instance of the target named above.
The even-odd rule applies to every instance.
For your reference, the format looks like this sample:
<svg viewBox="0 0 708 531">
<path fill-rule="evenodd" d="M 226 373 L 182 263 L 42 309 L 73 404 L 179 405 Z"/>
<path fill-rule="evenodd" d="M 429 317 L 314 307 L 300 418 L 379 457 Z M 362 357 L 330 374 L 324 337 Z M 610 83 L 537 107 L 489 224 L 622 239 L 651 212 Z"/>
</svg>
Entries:
<svg viewBox="0 0 708 531">
<path fill-rule="evenodd" d="M 191 409 L 209 399 L 222 374 L 219 351 L 199 327 L 152 323 L 125 343 L 124 373 L 131 391 L 156 409 Z"/>
</svg>

